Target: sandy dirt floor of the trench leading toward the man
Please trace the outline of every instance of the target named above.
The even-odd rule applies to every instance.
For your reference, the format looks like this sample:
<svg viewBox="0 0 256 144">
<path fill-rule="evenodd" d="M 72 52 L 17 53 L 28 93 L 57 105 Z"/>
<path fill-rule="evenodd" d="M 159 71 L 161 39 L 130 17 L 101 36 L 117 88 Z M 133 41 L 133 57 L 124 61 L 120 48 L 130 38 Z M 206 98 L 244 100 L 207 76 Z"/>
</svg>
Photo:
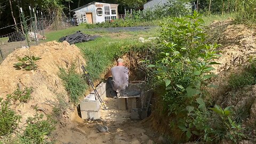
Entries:
<svg viewBox="0 0 256 144">
<path fill-rule="evenodd" d="M 100 121 L 83 121 L 78 116 L 76 122 L 67 125 L 58 133 L 57 143 L 153 143 L 157 135 L 145 121 L 132 121 L 127 110 L 118 110 L 117 99 L 107 98 L 107 110 L 100 110 Z M 108 126 L 109 132 L 99 132 L 98 124 Z"/>
</svg>

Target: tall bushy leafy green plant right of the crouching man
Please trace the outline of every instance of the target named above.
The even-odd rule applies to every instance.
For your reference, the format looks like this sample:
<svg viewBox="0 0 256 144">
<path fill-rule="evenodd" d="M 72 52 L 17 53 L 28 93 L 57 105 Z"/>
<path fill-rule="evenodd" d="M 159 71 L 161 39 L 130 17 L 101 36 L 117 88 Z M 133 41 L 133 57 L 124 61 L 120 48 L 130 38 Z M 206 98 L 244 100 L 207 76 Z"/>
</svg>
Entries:
<svg viewBox="0 0 256 144">
<path fill-rule="evenodd" d="M 205 87 L 213 86 L 207 79 L 215 76 L 211 73 L 212 65 L 220 64 L 214 61 L 220 52 L 218 44 L 206 43 L 203 27 L 204 21 L 197 12 L 184 18 L 167 19 L 162 24 L 159 55 L 154 65 L 148 67 L 156 70 L 154 86 L 165 89 L 164 109 L 173 117 L 170 126 L 185 133 L 187 140 L 217 142 L 230 129 L 226 124 L 215 127 L 213 112 L 207 109 L 211 101 Z"/>
</svg>

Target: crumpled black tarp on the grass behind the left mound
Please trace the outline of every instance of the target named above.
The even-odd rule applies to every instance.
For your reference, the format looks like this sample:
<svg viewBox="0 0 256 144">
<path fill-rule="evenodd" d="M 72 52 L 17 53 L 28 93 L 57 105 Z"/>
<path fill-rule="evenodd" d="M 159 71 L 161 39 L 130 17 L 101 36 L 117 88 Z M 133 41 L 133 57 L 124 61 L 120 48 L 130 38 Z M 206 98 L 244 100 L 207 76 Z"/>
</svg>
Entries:
<svg viewBox="0 0 256 144">
<path fill-rule="evenodd" d="M 100 37 L 99 35 L 86 35 L 81 33 L 81 31 L 77 31 L 75 34 L 68 35 L 65 37 L 61 37 L 59 39 L 60 42 L 67 41 L 69 44 L 82 43 L 92 41 L 95 38 Z"/>
</svg>

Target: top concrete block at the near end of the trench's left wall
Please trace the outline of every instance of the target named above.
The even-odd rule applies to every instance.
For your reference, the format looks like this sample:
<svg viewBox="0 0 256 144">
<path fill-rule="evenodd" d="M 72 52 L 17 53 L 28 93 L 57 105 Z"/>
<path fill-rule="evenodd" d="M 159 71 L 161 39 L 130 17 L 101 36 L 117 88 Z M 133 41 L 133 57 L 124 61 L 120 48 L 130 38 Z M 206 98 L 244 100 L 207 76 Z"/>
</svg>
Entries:
<svg viewBox="0 0 256 144">
<path fill-rule="evenodd" d="M 99 100 L 89 100 L 89 101 L 82 101 L 80 103 L 81 111 L 99 111 L 100 109 L 100 102 Z"/>
</svg>

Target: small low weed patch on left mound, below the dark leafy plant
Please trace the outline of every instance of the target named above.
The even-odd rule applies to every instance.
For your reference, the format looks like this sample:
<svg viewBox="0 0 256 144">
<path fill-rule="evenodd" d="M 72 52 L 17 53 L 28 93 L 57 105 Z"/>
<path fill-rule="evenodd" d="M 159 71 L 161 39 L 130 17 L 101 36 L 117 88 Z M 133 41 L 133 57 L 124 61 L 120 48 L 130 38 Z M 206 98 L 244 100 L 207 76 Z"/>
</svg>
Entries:
<svg viewBox="0 0 256 144">
<path fill-rule="evenodd" d="M 24 90 L 16 89 L 12 94 L 7 94 L 7 99 L 12 100 L 14 102 L 27 102 L 31 99 L 31 92 L 33 92 L 33 87 L 25 87 Z"/>
</svg>

